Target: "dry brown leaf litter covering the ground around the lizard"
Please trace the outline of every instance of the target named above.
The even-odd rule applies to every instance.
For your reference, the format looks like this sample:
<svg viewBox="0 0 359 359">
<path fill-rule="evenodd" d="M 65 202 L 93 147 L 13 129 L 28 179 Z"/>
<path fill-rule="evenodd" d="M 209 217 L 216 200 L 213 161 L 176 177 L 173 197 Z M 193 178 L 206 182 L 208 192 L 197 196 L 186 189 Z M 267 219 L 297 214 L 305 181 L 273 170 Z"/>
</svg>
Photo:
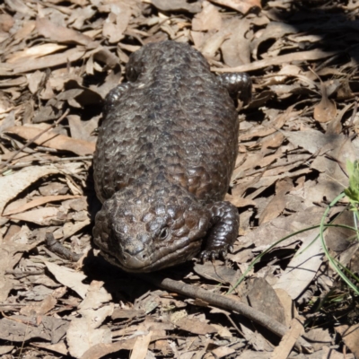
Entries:
<svg viewBox="0 0 359 359">
<path fill-rule="evenodd" d="M 348 187 L 346 161 L 359 157 L 357 1 L 16 0 L 0 10 L 2 357 L 359 355 L 357 298 L 318 229 L 302 232 Z M 226 197 L 241 219 L 233 253 L 225 264 L 169 268 L 153 286 L 93 249 L 92 153 L 103 99 L 129 55 L 165 39 L 192 44 L 216 73 L 250 72 L 253 100 L 239 115 Z M 346 202 L 329 215 L 354 225 Z M 48 250 L 47 233 L 79 261 Z M 353 232 L 325 237 L 357 274 Z M 295 351 L 301 338 L 305 355 Z"/>
</svg>

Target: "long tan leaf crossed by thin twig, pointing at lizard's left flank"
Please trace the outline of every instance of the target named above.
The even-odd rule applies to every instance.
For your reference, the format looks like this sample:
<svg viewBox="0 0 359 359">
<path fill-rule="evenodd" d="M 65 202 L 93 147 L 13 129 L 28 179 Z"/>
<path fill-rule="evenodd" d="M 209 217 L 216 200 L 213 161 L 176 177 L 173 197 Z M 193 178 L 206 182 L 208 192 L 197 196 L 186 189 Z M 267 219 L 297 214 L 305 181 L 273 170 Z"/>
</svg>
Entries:
<svg viewBox="0 0 359 359">
<path fill-rule="evenodd" d="M 42 130 L 30 126 L 16 126 L 8 128 L 6 132 L 21 136 L 26 140 L 31 140 L 32 138 L 38 136 Z M 70 151 L 80 156 L 92 154 L 95 151 L 95 144 L 92 142 L 74 139 L 64 135 L 58 135 L 53 131 L 44 133 L 35 141 L 35 144 L 56 148 L 57 150 Z"/>
</svg>

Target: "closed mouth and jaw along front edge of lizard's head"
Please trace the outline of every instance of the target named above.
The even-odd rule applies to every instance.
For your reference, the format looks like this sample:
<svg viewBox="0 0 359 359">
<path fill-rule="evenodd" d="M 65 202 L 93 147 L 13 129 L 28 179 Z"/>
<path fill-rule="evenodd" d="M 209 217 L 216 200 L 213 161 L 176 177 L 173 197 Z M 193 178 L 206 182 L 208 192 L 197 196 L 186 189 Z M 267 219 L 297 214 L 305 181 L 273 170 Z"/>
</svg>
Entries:
<svg viewBox="0 0 359 359">
<path fill-rule="evenodd" d="M 122 255 L 119 258 L 113 253 L 101 250 L 101 255 L 112 265 L 120 267 L 130 273 L 148 273 L 160 270 L 163 267 L 172 267 L 194 258 L 201 248 L 201 241 L 192 241 L 183 248 L 176 249 L 168 254 L 157 252 L 147 255 L 145 251 L 132 255 Z"/>
</svg>

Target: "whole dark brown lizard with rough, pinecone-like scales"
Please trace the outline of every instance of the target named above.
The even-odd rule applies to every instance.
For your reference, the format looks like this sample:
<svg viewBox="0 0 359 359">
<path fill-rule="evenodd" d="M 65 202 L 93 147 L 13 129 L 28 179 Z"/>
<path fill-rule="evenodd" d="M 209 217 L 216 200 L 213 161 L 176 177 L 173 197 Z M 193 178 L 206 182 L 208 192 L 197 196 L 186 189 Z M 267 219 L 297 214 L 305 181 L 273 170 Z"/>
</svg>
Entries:
<svg viewBox="0 0 359 359">
<path fill-rule="evenodd" d="M 231 96 L 250 97 L 249 76 L 218 78 L 197 50 L 165 41 L 132 54 L 127 79 L 109 92 L 94 155 L 95 243 L 129 272 L 225 256 L 239 227 L 223 201 L 238 151 Z"/>
</svg>

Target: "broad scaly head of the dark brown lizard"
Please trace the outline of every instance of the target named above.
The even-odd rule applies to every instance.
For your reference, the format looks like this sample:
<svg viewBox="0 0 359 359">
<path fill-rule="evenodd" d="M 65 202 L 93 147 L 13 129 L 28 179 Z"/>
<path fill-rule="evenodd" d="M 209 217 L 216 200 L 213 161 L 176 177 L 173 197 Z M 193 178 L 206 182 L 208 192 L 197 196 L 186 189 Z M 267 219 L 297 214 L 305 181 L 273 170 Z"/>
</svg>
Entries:
<svg viewBox="0 0 359 359">
<path fill-rule="evenodd" d="M 95 244 L 127 272 L 152 272 L 193 258 L 210 227 L 205 206 L 184 188 L 125 188 L 104 202 Z"/>
</svg>

